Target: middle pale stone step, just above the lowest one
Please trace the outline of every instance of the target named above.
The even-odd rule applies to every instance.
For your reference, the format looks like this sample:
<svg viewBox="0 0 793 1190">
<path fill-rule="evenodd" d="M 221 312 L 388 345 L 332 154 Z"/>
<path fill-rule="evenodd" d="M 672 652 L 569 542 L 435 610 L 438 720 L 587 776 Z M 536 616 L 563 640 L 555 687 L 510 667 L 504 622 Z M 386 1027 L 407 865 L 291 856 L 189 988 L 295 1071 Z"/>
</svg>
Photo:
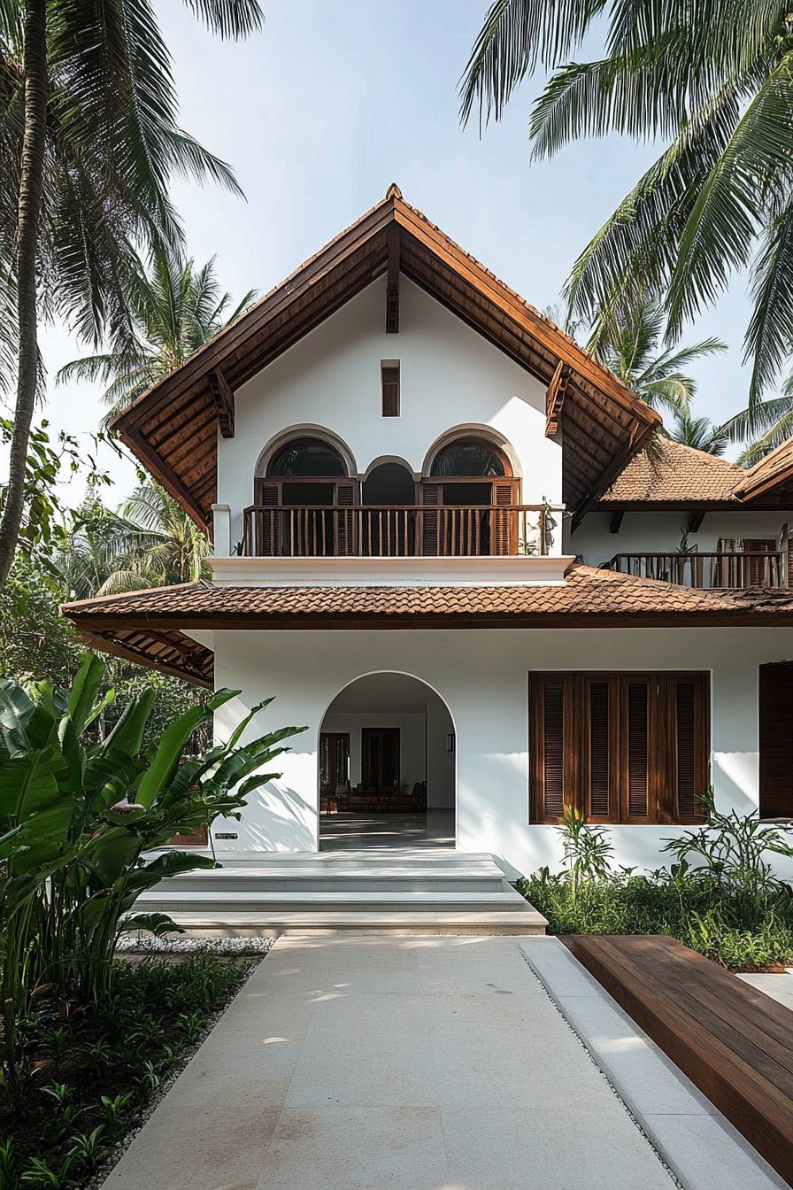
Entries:
<svg viewBox="0 0 793 1190">
<path fill-rule="evenodd" d="M 165 883 L 165 882 L 163 882 Z M 170 891 L 168 888 L 155 888 L 144 892 L 136 902 L 136 910 L 146 913 L 169 913 L 177 921 L 184 913 L 251 913 L 253 910 L 272 910 L 292 913 L 345 910 L 372 913 L 389 909 L 392 913 L 429 913 L 451 909 L 455 913 L 506 912 L 515 913 L 525 908 L 525 900 L 515 889 L 508 888 L 498 892 L 401 892 L 377 889 L 371 892 L 348 892 L 334 890 L 329 892 L 224 892 L 201 890 L 195 892 Z"/>
</svg>

